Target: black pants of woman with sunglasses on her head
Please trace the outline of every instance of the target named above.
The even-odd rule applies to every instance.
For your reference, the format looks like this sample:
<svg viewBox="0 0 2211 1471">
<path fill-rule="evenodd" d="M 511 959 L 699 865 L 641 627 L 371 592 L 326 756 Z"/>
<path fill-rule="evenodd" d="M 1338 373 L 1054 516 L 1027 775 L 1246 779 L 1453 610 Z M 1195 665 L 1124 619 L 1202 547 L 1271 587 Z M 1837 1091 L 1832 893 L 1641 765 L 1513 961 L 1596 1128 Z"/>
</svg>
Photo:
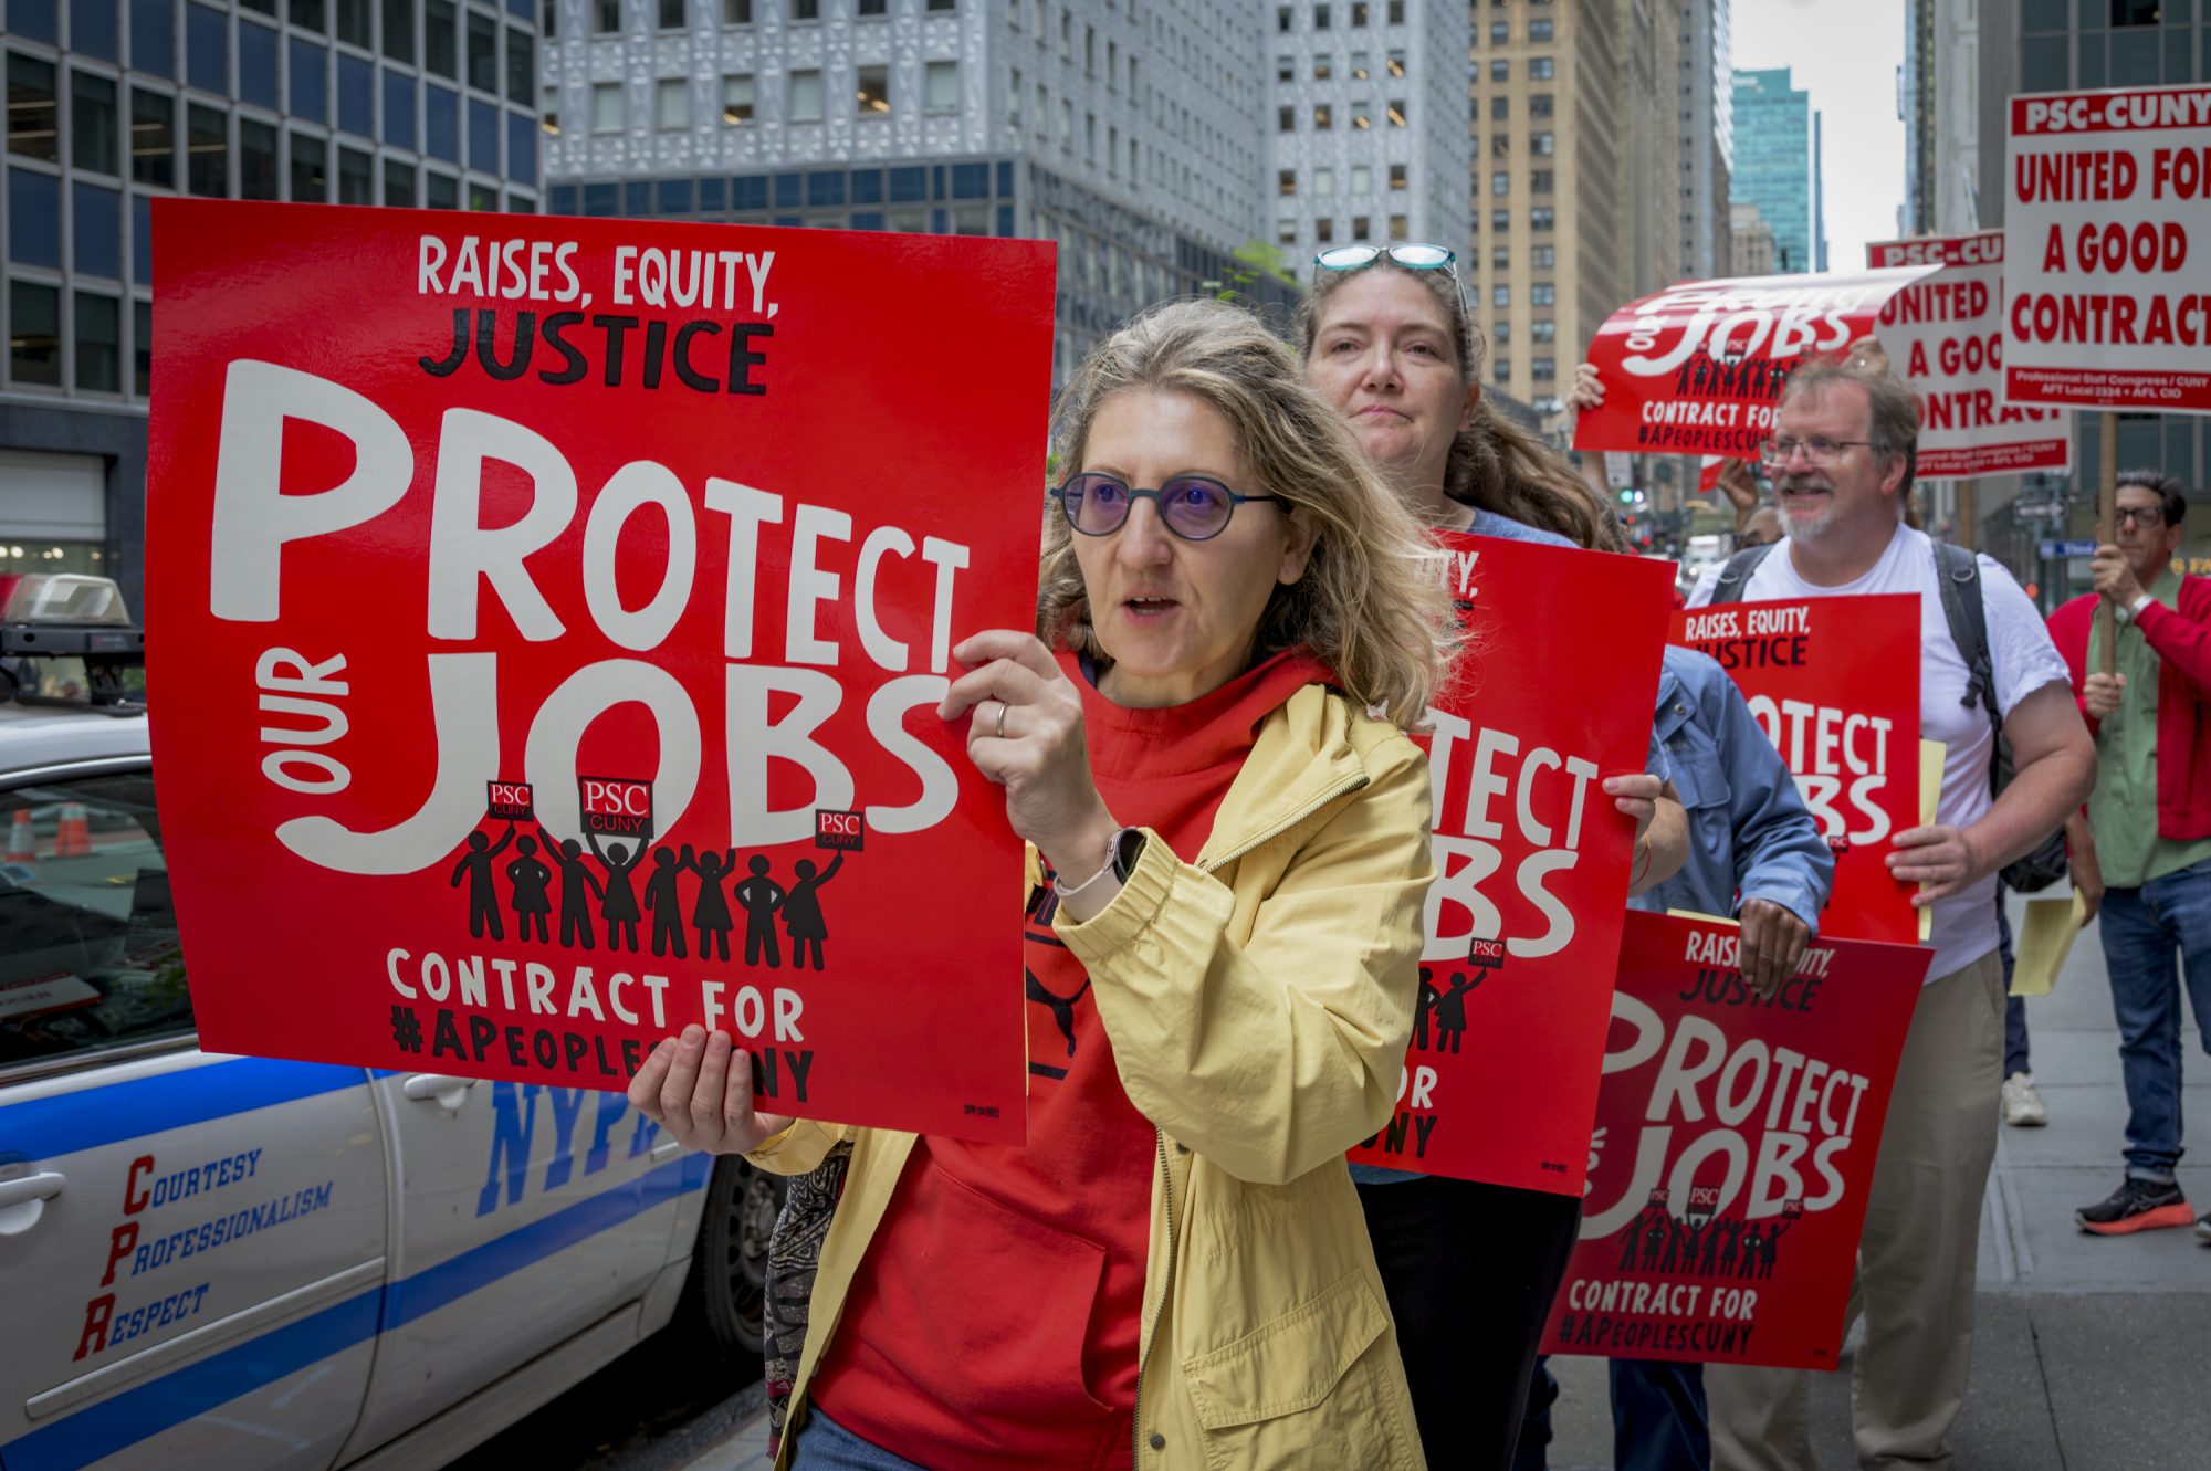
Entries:
<svg viewBox="0 0 2211 1471">
<path fill-rule="evenodd" d="M 1362 1184 L 1431 1467 L 1510 1471 L 1581 1197 L 1473 1179 Z"/>
</svg>

